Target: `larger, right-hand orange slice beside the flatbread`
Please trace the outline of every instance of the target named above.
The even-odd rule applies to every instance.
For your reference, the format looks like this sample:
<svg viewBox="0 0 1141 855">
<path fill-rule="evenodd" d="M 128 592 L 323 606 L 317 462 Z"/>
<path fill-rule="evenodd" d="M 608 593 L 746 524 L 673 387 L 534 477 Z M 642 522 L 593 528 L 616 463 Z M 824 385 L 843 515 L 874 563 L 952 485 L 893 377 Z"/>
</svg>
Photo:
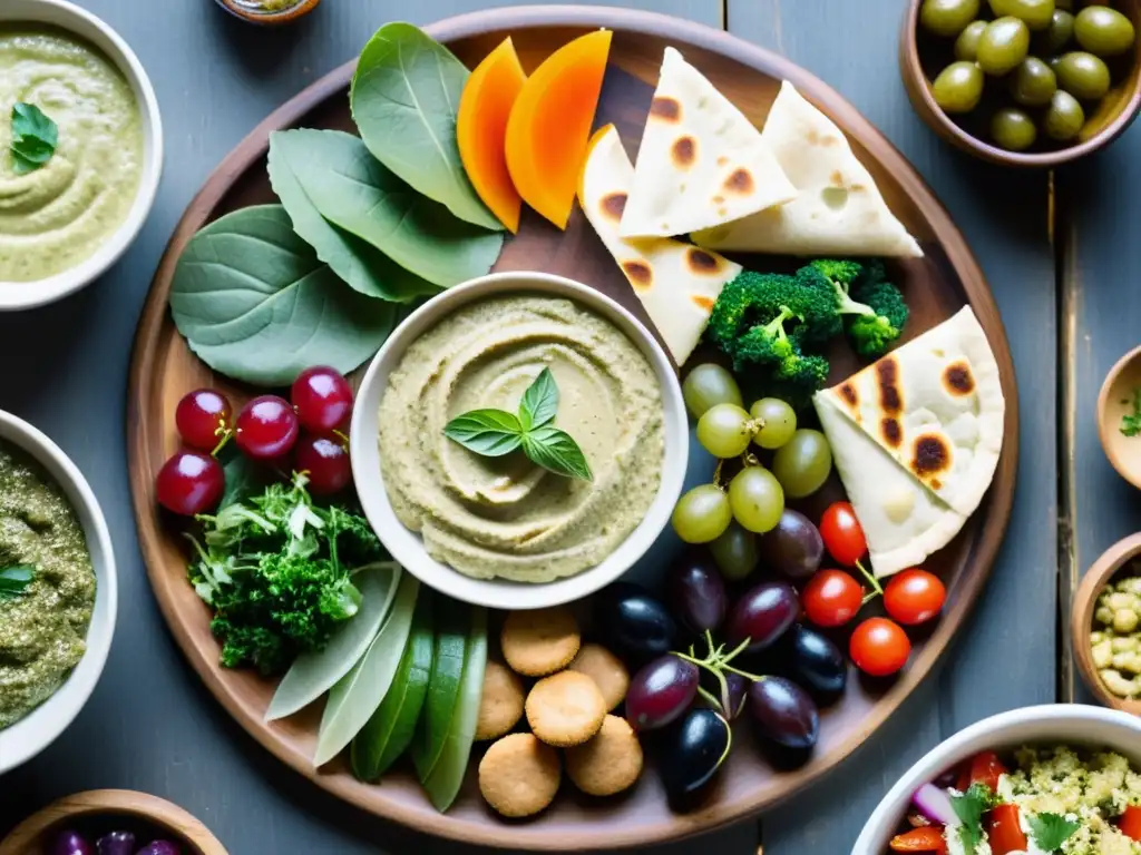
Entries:
<svg viewBox="0 0 1141 855">
<path fill-rule="evenodd" d="M 507 165 L 524 202 L 566 228 L 598 109 L 612 33 L 578 36 L 527 79 L 507 125 Z"/>
</svg>

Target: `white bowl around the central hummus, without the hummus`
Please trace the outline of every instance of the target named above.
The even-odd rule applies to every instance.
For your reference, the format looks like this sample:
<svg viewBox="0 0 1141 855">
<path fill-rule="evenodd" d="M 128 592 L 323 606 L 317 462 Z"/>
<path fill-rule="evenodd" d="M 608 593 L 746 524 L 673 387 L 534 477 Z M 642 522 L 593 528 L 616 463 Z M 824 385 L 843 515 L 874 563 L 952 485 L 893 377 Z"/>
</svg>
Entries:
<svg viewBox="0 0 1141 855">
<path fill-rule="evenodd" d="M 432 559 L 420 535 L 396 518 L 381 480 L 377 447 L 378 410 L 388 375 L 404 351 L 422 333 L 459 307 L 475 300 L 509 293 L 545 293 L 566 296 L 592 309 L 622 329 L 649 360 L 662 386 L 665 409 L 665 458 L 662 482 L 641 523 L 602 563 L 576 576 L 549 583 L 526 584 L 504 579 L 472 579 Z M 494 609 L 541 609 L 578 600 L 617 579 L 654 544 L 670 521 L 681 494 L 689 455 L 689 425 L 681 384 L 657 341 L 633 315 L 608 296 L 561 276 L 540 272 L 493 274 L 472 279 L 432 298 L 407 317 L 380 349 L 361 383 L 349 434 L 353 479 L 365 515 L 381 542 L 400 564 L 426 585 L 450 596 Z"/>
</svg>

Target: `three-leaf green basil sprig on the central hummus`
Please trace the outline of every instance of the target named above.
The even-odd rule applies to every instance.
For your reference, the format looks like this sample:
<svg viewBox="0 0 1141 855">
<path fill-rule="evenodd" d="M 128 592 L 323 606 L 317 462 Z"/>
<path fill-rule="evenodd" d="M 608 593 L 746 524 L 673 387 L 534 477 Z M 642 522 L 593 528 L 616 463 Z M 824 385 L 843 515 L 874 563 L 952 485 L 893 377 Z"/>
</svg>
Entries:
<svg viewBox="0 0 1141 855">
<path fill-rule="evenodd" d="M 548 472 L 592 481 L 586 456 L 570 434 L 551 424 L 559 408 L 559 388 L 543 368 L 524 392 L 518 414 L 505 409 L 474 409 L 444 426 L 444 435 L 484 457 L 502 457 L 523 449 Z"/>
</svg>

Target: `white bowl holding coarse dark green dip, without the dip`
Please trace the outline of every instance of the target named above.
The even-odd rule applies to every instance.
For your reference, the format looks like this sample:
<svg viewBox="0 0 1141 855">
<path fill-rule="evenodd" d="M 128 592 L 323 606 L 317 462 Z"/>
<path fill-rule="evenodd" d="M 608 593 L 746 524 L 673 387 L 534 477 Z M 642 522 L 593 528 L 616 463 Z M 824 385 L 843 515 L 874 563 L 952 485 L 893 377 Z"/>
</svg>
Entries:
<svg viewBox="0 0 1141 855">
<path fill-rule="evenodd" d="M 87 652 L 59 690 L 10 727 L 0 730 L 0 774 L 31 759 L 63 733 L 91 697 L 111 650 L 119 605 L 115 556 L 99 503 L 75 464 L 59 446 L 10 413 L 0 410 L 0 439 L 35 458 L 63 488 L 83 527 L 95 568 L 95 610 L 87 630 Z"/>
</svg>

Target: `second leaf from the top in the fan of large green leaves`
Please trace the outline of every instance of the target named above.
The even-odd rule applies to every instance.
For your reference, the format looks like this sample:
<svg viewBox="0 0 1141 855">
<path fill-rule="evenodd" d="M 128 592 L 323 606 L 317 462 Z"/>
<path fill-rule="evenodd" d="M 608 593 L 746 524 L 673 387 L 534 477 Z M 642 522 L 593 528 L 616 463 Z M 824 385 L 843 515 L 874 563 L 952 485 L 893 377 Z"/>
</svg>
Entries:
<svg viewBox="0 0 1141 855">
<path fill-rule="evenodd" d="M 270 176 L 275 164 L 325 220 L 440 287 L 484 276 L 503 247 L 502 234 L 456 219 L 416 193 L 351 133 L 277 131 L 269 137 Z"/>
</svg>

